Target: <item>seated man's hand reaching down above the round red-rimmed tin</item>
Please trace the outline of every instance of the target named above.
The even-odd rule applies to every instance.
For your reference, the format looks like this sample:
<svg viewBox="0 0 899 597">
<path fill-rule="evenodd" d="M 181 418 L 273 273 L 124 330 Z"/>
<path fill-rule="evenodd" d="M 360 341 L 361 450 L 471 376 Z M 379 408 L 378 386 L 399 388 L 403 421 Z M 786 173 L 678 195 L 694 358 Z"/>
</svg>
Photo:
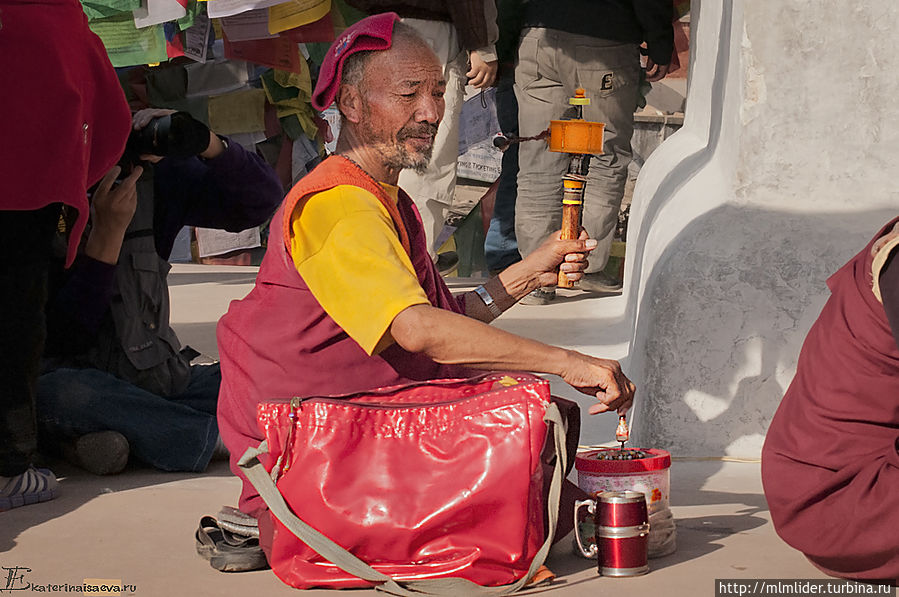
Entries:
<svg viewBox="0 0 899 597">
<path fill-rule="evenodd" d="M 627 378 L 618 361 L 598 359 L 576 351 L 568 351 L 569 364 L 561 377 L 584 394 L 595 396 L 598 404 L 590 407 L 591 415 L 617 410 L 624 414 L 634 401 L 636 386 Z"/>
</svg>

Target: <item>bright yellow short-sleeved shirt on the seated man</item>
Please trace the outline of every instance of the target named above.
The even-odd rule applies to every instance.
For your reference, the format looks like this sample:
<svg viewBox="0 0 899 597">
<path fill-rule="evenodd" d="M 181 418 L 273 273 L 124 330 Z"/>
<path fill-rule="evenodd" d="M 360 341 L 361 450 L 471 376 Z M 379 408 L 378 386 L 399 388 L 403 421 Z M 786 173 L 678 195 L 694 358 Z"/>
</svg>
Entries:
<svg viewBox="0 0 899 597">
<path fill-rule="evenodd" d="M 381 186 L 395 202 L 399 188 Z M 428 303 L 390 214 L 359 187 L 339 185 L 298 205 L 290 253 L 325 312 L 368 354 L 393 343 L 400 311 Z"/>
</svg>

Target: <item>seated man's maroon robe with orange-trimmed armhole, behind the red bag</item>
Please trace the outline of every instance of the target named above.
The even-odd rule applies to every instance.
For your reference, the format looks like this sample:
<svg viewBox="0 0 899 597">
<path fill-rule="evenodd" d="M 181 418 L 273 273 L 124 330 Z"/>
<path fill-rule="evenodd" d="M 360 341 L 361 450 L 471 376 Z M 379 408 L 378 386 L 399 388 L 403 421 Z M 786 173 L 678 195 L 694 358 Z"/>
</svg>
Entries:
<svg viewBox="0 0 899 597">
<path fill-rule="evenodd" d="M 300 180 L 272 218 L 256 286 L 246 298 L 231 303 L 217 330 L 222 367 L 219 432 L 231 453 L 231 470 L 243 480 L 239 507 L 249 514 L 258 515 L 266 506 L 238 470 L 237 460 L 264 439 L 256 424 L 260 402 L 471 375 L 470 370 L 440 365 L 396 344 L 369 356 L 312 295 L 288 250 L 290 215 L 294 206 L 313 193 L 342 184 L 369 191 L 391 212 L 431 305 L 463 313 L 428 255 L 421 218 L 402 190 L 394 207 L 380 185 L 358 166 L 336 156 Z"/>
</svg>

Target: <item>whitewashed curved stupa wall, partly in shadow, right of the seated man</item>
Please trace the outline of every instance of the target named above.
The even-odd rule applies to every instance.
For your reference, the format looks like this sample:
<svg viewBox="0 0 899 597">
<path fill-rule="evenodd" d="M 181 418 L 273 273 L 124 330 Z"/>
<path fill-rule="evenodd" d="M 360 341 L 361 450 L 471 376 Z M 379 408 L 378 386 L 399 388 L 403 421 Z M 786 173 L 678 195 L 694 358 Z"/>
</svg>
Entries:
<svg viewBox="0 0 899 597">
<path fill-rule="evenodd" d="M 693 0 L 692 30 L 631 210 L 634 445 L 756 458 L 826 278 L 899 215 L 899 2 Z"/>
</svg>

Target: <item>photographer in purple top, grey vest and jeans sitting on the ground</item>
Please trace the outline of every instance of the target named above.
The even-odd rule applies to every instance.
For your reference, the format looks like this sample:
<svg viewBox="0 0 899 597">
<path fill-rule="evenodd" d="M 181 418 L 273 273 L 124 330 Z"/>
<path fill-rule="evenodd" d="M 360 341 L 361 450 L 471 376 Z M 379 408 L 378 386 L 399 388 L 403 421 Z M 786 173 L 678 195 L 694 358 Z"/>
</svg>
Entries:
<svg viewBox="0 0 899 597">
<path fill-rule="evenodd" d="M 184 226 L 237 232 L 264 223 L 283 196 L 263 159 L 186 112 L 146 109 L 120 165 L 91 197 L 72 268 L 47 306 L 38 380 L 45 448 L 95 474 L 129 456 L 168 471 L 202 471 L 223 451 L 218 364 L 191 365 L 169 322 L 168 258 Z"/>
</svg>

